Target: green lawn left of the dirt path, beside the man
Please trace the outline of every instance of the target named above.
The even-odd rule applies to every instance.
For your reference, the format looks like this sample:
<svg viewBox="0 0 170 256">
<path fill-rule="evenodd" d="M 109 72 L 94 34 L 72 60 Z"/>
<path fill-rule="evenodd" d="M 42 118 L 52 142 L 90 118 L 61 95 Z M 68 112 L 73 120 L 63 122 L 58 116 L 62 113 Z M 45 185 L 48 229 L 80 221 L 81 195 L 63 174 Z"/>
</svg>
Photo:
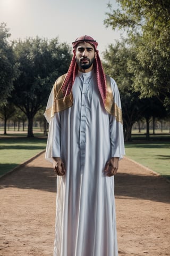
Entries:
<svg viewBox="0 0 170 256">
<path fill-rule="evenodd" d="M 13 134 L 0 137 L 0 175 L 12 170 L 46 148 L 47 138 L 23 137 L 23 134 Z"/>
</svg>

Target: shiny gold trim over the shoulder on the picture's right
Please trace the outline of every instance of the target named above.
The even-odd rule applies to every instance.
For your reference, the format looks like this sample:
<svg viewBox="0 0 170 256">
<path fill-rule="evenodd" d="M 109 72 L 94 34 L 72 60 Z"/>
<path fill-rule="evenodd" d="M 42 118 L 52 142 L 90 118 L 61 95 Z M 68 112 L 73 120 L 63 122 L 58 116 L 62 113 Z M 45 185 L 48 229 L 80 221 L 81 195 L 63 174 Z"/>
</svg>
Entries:
<svg viewBox="0 0 170 256">
<path fill-rule="evenodd" d="M 107 95 L 106 95 L 106 101 L 105 101 L 105 109 L 109 114 L 115 116 L 117 122 L 121 122 L 123 124 L 122 109 L 119 108 L 114 102 L 113 92 L 111 87 L 111 78 L 108 75 L 106 75 L 106 84 L 107 84 Z"/>
</svg>

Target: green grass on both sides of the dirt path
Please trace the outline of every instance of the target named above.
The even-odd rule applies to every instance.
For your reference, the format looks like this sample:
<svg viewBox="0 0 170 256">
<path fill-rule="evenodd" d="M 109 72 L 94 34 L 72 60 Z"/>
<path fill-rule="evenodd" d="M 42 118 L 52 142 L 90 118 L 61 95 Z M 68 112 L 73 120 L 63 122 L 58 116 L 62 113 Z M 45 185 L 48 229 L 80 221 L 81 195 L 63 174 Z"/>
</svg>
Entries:
<svg viewBox="0 0 170 256">
<path fill-rule="evenodd" d="M 35 138 L 26 136 L 0 135 L 0 175 L 46 148 L 47 138 L 42 133 L 35 133 Z M 170 134 L 150 135 L 146 141 L 144 133 L 132 133 L 132 142 L 125 143 L 125 150 L 127 157 L 170 179 Z"/>
</svg>

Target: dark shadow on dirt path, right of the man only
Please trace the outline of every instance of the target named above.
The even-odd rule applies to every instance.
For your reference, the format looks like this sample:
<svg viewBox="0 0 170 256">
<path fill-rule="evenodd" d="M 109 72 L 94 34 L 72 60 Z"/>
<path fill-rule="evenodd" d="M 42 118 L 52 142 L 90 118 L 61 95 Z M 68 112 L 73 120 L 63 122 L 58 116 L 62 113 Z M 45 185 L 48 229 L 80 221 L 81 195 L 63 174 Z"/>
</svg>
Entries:
<svg viewBox="0 0 170 256">
<path fill-rule="evenodd" d="M 160 176 L 117 173 L 115 196 L 170 203 L 170 183 Z"/>
</svg>

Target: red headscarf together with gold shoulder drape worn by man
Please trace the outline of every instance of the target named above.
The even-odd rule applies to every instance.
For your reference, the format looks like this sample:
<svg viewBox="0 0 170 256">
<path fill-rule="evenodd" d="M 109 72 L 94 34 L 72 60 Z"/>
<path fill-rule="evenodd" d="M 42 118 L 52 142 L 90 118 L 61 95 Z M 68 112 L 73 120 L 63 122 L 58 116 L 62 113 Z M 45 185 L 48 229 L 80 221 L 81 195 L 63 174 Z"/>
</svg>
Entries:
<svg viewBox="0 0 170 256">
<path fill-rule="evenodd" d="M 54 90 L 52 90 L 48 99 L 44 114 L 47 122 L 50 122 L 50 118 L 52 118 L 55 113 L 70 108 L 73 105 L 72 87 L 78 73 L 78 64 L 75 59 L 75 52 L 76 46 L 80 42 L 87 42 L 94 46 L 97 53 L 94 60 L 94 71 L 96 73 L 97 86 L 104 108 L 108 114 L 115 116 L 117 122 L 123 123 L 119 92 L 116 90 L 113 95 L 111 77 L 105 75 L 101 60 L 99 58 L 97 50 L 98 43 L 91 36 L 87 35 L 78 37 L 75 42 L 72 43 L 74 55 L 71 60 L 69 70 L 67 71 L 67 74 L 58 77 L 54 84 Z M 117 86 L 115 88 L 117 88 Z"/>
</svg>

